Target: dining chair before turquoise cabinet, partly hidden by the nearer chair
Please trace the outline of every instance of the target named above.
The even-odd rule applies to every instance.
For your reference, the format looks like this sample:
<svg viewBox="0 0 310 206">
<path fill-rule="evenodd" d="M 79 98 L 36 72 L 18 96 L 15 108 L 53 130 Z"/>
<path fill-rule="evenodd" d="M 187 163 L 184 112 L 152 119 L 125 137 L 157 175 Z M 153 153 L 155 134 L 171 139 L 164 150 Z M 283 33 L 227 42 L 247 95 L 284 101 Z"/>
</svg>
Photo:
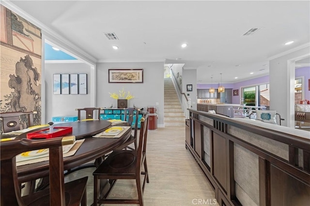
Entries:
<svg viewBox="0 0 310 206">
<path fill-rule="evenodd" d="M 130 135 L 129 139 L 117 149 L 137 149 L 139 111 L 140 109 L 131 107 L 124 109 L 124 120 L 127 121 L 129 125 L 131 125 L 132 129 L 134 129 L 134 134 Z M 134 143 L 135 148 L 129 147 L 129 145 L 131 145 L 132 143 Z"/>
</svg>

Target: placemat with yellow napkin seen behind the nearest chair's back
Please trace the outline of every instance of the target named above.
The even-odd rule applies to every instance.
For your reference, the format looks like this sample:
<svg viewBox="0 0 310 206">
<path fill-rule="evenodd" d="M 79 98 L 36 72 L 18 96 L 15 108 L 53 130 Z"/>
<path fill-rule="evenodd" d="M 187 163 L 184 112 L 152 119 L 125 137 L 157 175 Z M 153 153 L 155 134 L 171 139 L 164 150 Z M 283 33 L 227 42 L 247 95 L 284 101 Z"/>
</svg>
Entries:
<svg viewBox="0 0 310 206">
<path fill-rule="evenodd" d="M 85 139 L 77 140 L 72 145 L 62 146 L 63 157 L 69 157 L 69 156 L 74 155 L 77 152 L 78 148 L 81 147 L 84 140 Z M 42 153 L 42 155 L 36 156 L 35 154 L 38 154 L 38 153 L 39 154 Z M 39 150 L 23 152 L 16 156 L 16 166 L 48 161 L 48 159 L 49 159 L 48 149 L 39 149 Z"/>
</svg>

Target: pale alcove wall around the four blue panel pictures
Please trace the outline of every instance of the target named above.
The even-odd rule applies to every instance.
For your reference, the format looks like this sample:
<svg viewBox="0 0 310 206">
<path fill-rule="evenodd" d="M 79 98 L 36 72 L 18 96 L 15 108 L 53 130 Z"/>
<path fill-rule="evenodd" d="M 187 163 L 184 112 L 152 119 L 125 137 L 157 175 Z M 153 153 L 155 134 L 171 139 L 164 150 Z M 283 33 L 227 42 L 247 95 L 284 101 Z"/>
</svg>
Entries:
<svg viewBox="0 0 310 206">
<path fill-rule="evenodd" d="M 88 94 L 53 94 L 53 74 L 87 74 Z M 46 124 L 57 116 L 78 116 L 76 108 L 93 107 L 91 103 L 91 67 L 85 63 L 45 63 L 45 105 Z M 81 118 L 83 118 L 81 114 Z M 84 116 L 85 117 L 85 116 Z"/>
</svg>

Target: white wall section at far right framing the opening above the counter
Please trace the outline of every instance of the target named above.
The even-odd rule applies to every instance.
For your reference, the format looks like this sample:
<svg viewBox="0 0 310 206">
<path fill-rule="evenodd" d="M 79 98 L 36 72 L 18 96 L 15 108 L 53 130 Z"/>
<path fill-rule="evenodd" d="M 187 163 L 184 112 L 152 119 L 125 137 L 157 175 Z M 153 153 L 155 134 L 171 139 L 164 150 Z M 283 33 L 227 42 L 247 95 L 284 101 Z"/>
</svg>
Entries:
<svg viewBox="0 0 310 206">
<path fill-rule="evenodd" d="M 309 45 L 269 61 L 270 110 L 284 118 L 283 126 L 294 127 L 294 61 L 309 56 Z"/>
</svg>

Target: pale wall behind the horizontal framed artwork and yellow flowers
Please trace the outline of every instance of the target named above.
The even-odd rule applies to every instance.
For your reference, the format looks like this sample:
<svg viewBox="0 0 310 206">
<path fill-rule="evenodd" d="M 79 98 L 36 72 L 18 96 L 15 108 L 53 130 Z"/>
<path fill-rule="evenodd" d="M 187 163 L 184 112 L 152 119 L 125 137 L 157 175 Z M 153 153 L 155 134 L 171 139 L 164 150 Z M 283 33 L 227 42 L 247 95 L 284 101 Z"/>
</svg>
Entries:
<svg viewBox="0 0 310 206">
<path fill-rule="evenodd" d="M 135 97 L 128 100 L 128 106 L 144 108 L 156 106 L 157 126 L 164 127 L 164 62 L 115 62 L 97 63 L 97 102 L 98 107 L 117 108 L 117 100 L 110 97 L 110 93 L 118 93 L 119 90 L 130 91 Z M 109 83 L 109 69 L 143 69 L 143 83 Z M 156 105 L 158 103 L 158 105 Z"/>
</svg>

